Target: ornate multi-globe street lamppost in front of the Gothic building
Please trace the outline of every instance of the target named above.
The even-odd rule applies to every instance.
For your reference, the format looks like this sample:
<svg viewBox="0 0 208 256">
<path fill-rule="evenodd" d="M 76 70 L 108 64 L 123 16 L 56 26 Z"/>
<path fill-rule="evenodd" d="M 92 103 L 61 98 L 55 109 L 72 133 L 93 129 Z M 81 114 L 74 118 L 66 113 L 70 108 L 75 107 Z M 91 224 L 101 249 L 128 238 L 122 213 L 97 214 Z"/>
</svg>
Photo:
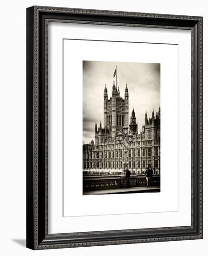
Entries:
<svg viewBox="0 0 208 256">
<path fill-rule="evenodd" d="M 118 136 L 119 142 L 122 143 L 124 146 L 124 154 L 125 154 L 124 171 L 125 171 L 125 168 L 126 167 L 128 168 L 128 166 L 127 166 L 128 146 L 132 144 L 133 135 L 131 132 L 128 134 L 128 127 L 125 125 L 123 127 L 123 133 L 120 132 L 117 136 Z"/>
</svg>

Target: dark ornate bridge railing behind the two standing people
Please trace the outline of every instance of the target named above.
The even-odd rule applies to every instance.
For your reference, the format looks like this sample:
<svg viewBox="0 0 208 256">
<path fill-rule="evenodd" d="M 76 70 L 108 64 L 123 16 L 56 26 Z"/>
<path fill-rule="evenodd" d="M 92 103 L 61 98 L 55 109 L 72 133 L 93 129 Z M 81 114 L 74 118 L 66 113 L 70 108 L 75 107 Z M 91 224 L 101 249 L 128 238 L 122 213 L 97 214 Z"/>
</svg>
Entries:
<svg viewBox="0 0 208 256">
<path fill-rule="evenodd" d="M 160 174 L 153 174 L 152 186 L 160 186 Z M 130 187 L 147 186 L 145 175 L 131 175 Z M 84 176 L 83 191 L 98 189 L 119 189 L 126 187 L 125 175 Z"/>
</svg>

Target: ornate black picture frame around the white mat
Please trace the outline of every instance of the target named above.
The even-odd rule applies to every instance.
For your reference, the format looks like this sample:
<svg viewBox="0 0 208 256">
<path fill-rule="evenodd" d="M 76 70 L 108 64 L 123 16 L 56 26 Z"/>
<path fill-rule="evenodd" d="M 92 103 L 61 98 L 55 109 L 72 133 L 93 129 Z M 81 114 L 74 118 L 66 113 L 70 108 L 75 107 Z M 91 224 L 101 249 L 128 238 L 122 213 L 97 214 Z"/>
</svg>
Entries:
<svg viewBox="0 0 208 256">
<path fill-rule="evenodd" d="M 47 20 L 191 31 L 191 225 L 48 234 Z M 27 234 L 30 249 L 202 239 L 202 17 L 27 8 Z"/>
</svg>

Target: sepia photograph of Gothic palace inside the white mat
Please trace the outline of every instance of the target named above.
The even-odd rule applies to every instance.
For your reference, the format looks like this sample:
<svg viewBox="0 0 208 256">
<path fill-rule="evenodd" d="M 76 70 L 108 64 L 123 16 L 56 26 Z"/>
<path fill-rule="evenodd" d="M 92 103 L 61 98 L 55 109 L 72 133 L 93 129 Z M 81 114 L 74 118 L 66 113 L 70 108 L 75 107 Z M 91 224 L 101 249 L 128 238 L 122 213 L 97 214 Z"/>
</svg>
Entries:
<svg viewBox="0 0 208 256">
<path fill-rule="evenodd" d="M 83 61 L 83 195 L 160 192 L 160 64 Z"/>
</svg>

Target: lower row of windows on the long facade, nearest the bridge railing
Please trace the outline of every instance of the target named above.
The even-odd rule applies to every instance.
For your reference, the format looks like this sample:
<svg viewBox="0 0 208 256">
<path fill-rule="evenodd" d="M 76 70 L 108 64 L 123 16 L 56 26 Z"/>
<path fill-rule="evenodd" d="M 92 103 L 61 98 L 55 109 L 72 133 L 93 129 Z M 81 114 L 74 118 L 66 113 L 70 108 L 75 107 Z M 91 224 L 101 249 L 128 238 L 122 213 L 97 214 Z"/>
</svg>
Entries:
<svg viewBox="0 0 208 256">
<path fill-rule="evenodd" d="M 129 161 L 129 168 L 146 168 L 147 166 L 151 166 L 151 160 L 148 160 L 147 162 L 145 160 L 142 161 Z M 137 164 L 137 166 L 136 166 Z M 159 167 L 159 160 L 155 160 L 155 166 L 154 168 Z M 116 161 L 116 162 L 83 162 L 83 168 L 123 168 L 123 162 L 122 161 Z"/>
</svg>

